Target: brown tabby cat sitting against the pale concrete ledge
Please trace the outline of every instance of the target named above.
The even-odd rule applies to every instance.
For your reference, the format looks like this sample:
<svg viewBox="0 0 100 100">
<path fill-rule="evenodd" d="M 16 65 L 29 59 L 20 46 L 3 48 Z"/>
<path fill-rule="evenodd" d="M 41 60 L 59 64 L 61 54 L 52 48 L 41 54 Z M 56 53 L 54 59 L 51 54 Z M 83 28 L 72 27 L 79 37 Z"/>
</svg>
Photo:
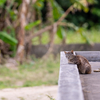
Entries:
<svg viewBox="0 0 100 100">
<path fill-rule="evenodd" d="M 65 52 L 66 57 L 68 58 L 68 63 L 77 64 L 77 68 L 80 74 L 90 74 L 91 73 L 91 65 L 88 60 L 80 55 L 74 55 L 73 51 Z"/>
</svg>

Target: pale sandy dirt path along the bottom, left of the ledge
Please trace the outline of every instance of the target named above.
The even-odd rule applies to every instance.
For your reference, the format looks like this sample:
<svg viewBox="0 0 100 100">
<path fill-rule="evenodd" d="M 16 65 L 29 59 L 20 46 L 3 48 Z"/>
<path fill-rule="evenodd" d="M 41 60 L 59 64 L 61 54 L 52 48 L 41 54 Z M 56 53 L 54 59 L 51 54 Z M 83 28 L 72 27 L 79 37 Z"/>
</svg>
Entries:
<svg viewBox="0 0 100 100">
<path fill-rule="evenodd" d="M 56 100 L 58 86 L 37 86 L 0 90 L 0 100 Z"/>
</svg>

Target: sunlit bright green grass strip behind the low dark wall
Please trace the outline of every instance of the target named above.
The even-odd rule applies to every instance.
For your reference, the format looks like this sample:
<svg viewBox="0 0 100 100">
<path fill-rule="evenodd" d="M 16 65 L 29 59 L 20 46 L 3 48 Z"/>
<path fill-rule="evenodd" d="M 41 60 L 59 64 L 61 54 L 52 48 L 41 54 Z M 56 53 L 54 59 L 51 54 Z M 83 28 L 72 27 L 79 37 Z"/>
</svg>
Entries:
<svg viewBox="0 0 100 100">
<path fill-rule="evenodd" d="M 84 32 L 89 41 L 92 43 L 100 43 L 100 30 L 87 30 Z M 42 34 L 42 44 L 47 44 L 49 42 L 49 35 L 48 32 L 45 32 Z M 55 44 L 61 44 L 62 40 L 56 35 L 55 36 Z M 86 40 L 75 31 L 66 31 L 66 43 L 72 44 L 72 43 L 86 43 Z M 38 45 L 38 37 L 33 39 L 33 44 Z"/>
</svg>

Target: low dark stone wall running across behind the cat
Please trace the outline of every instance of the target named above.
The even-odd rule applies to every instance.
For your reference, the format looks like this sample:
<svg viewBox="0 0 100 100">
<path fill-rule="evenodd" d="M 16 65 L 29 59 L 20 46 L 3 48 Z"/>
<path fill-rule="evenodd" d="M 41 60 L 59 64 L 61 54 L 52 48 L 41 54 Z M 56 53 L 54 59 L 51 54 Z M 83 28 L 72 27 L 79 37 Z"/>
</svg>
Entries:
<svg viewBox="0 0 100 100">
<path fill-rule="evenodd" d="M 42 57 L 48 50 L 49 45 L 33 45 L 31 54 L 36 57 Z M 60 51 L 100 51 L 100 44 L 96 43 L 93 45 L 88 44 L 69 44 L 69 45 L 54 45 L 53 54 L 57 55 Z"/>
</svg>

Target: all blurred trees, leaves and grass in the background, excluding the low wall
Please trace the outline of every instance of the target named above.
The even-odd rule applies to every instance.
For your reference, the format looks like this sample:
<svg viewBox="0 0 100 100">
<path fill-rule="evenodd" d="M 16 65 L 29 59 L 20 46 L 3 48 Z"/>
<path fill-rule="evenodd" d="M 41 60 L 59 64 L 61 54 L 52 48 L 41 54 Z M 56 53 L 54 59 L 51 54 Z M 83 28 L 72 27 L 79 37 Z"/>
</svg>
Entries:
<svg viewBox="0 0 100 100">
<path fill-rule="evenodd" d="M 0 88 L 57 84 L 60 61 L 49 57 L 53 45 L 99 43 L 99 5 L 99 0 L 0 0 Z M 30 57 L 31 46 L 41 44 L 49 46 L 43 58 Z M 8 62 L 13 65 L 6 67 Z"/>
</svg>

